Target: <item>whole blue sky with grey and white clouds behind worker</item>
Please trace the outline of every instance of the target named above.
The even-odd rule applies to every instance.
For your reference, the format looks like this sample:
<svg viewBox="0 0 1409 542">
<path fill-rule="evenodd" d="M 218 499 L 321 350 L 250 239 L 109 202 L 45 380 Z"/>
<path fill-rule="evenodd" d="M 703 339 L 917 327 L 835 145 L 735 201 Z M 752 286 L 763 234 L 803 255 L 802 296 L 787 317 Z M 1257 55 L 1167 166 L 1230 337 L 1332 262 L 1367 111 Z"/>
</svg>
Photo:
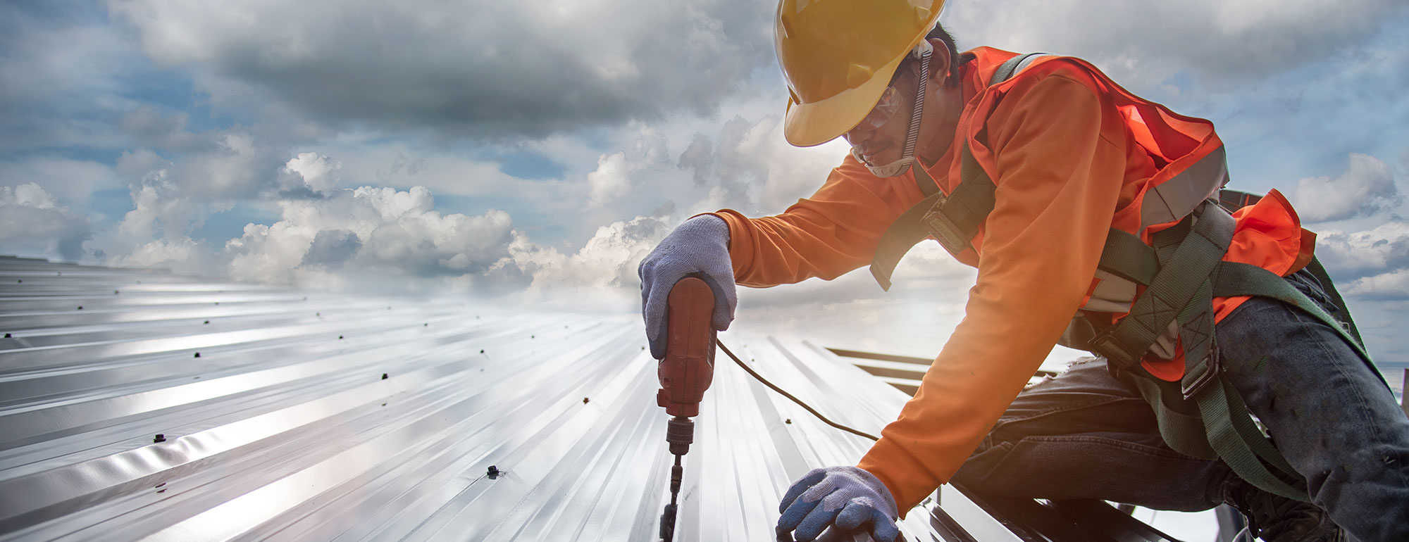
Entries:
<svg viewBox="0 0 1409 542">
<path fill-rule="evenodd" d="M 689 215 L 782 211 L 771 0 L 0 4 L 0 253 L 347 291 L 633 311 Z M 1206 117 L 1278 189 L 1374 353 L 1409 362 L 1409 6 L 954 1 L 961 48 L 1084 56 Z M 933 355 L 974 273 L 930 246 L 741 291 L 738 327 Z"/>
</svg>

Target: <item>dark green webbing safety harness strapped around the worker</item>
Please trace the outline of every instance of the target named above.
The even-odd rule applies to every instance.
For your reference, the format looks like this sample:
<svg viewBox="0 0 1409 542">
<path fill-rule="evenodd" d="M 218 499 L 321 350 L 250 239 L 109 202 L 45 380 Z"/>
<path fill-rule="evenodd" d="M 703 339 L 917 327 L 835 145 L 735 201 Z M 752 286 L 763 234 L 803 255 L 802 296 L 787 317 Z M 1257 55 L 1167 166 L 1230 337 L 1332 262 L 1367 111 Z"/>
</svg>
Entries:
<svg viewBox="0 0 1409 542">
<path fill-rule="evenodd" d="M 1019 55 L 1003 62 L 989 86 L 1007 80 L 1037 55 Z M 1344 301 L 1315 258 L 1306 269 L 1337 304 L 1336 315 L 1277 273 L 1223 260 L 1236 227 L 1229 213 L 1260 197 L 1222 190 L 1226 182 L 1223 156 L 1213 158 L 1217 158 L 1219 180 L 1213 183 L 1212 194 L 1185 197 L 1189 203 L 1184 208 L 1171 210 L 1171 220 L 1178 218 L 1178 224 L 1153 234 L 1151 245 L 1120 229 L 1107 232 L 1096 269 L 1144 286 L 1130 313 L 1105 328 L 1078 315 L 1058 344 L 1106 358 L 1117 376 L 1122 372 L 1137 376 L 1130 380 L 1154 407 L 1160 434 L 1174 450 L 1222 459 L 1240 477 L 1265 491 L 1309 501 L 1305 479 L 1272 446 L 1223 374 L 1215 338 L 1213 298 L 1262 296 L 1281 300 L 1336 329 L 1361 360 L 1371 369 L 1374 363 Z M 926 197 L 903 213 L 881 238 L 871 273 L 882 289 L 889 290 L 890 275 L 910 246 L 929 237 L 952 255 L 972 248 L 971 239 L 993 211 L 996 186 L 967 142 L 960 160 L 960 183 L 948 196 L 940 191 L 923 168 L 914 168 L 916 184 Z M 1160 335 L 1175 325 L 1184 346 L 1185 372 L 1179 382 L 1167 382 L 1146 370 L 1140 359 Z"/>
</svg>

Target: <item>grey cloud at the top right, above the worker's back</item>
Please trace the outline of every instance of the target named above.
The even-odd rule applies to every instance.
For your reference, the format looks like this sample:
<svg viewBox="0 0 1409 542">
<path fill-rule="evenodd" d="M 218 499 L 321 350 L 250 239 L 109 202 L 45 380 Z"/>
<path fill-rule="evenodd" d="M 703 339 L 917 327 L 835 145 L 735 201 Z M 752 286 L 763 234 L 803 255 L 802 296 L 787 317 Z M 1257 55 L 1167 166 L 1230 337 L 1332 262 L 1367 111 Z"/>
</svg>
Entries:
<svg viewBox="0 0 1409 542">
<path fill-rule="evenodd" d="M 951 3 L 960 48 L 995 45 L 1076 55 L 1127 83 L 1255 84 L 1363 48 L 1409 13 L 1402 0 L 1020 0 Z"/>
</svg>

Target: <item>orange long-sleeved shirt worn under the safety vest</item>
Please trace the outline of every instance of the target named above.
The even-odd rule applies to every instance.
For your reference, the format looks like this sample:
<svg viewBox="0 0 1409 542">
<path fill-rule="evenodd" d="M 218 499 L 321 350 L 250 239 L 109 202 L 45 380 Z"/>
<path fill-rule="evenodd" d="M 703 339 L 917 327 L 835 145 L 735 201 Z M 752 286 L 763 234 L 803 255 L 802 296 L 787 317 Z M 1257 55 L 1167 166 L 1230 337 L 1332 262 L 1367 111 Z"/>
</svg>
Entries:
<svg viewBox="0 0 1409 542">
<path fill-rule="evenodd" d="M 978 72 L 975 62 L 961 68 L 969 107 L 985 89 Z M 982 256 L 961 255 L 976 265 L 978 282 L 914 398 L 858 465 L 886 484 L 902 514 L 958 470 L 1022 391 L 1091 290 L 1117 210 L 1158 170 L 1091 77 L 1075 65 L 1044 70 L 1014 80 L 986 118 L 965 115 L 983 122 L 996 165 Z M 951 191 L 958 153 L 951 148 L 926 172 Z M 730 227 L 735 280 L 762 287 L 833 279 L 868 263 L 885 229 L 920 200 L 913 173 L 875 177 L 848 156 L 816 194 L 781 215 L 717 215 Z M 1293 229 L 1295 238 L 1281 231 L 1275 239 L 1240 232 L 1234 248 L 1240 238 L 1279 244 L 1278 258 L 1286 259 L 1286 249 L 1295 256 L 1301 248 Z"/>
</svg>

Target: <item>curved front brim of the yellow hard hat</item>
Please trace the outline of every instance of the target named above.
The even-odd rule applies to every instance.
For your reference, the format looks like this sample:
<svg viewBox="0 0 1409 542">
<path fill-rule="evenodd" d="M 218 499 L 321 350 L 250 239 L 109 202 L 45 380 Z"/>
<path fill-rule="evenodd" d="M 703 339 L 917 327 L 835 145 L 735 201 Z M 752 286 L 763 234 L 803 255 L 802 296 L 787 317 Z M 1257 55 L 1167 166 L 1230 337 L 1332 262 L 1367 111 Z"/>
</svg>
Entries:
<svg viewBox="0 0 1409 542">
<path fill-rule="evenodd" d="M 816 146 L 836 139 L 854 128 L 871 113 L 876 100 L 890 86 L 890 76 L 909 53 L 898 56 L 855 89 L 847 89 L 826 100 L 797 103 L 788 99 L 783 115 L 783 137 L 793 146 Z"/>
</svg>

